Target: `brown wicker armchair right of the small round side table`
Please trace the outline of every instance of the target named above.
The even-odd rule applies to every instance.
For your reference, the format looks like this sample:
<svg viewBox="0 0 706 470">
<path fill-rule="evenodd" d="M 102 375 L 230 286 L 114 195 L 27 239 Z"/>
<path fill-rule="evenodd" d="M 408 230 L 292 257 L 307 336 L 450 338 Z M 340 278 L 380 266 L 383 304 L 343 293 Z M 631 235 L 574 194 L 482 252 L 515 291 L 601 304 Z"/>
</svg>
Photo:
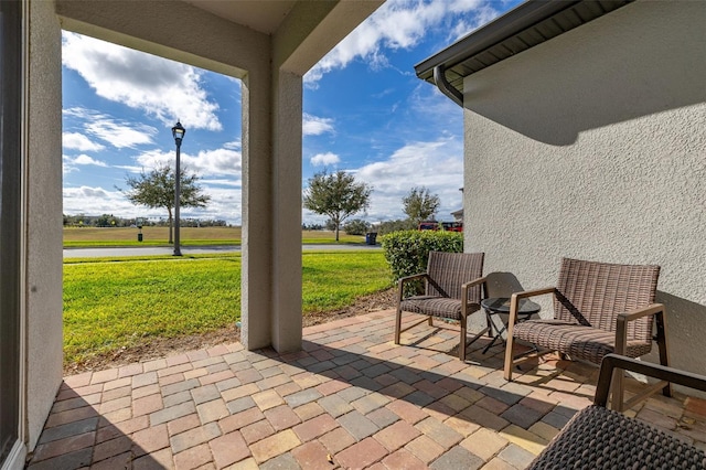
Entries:
<svg viewBox="0 0 706 470">
<path fill-rule="evenodd" d="M 523 340 L 558 351 L 563 357 L 600 364 L 606 354 L 638 357 L 652 349 L 652 322 L 656 323 L 660 363 L 668 365 L 664 306 L 654 303 L 659 266 L 614 265 L 563 258 L 556 287 L 514 293 L 511 298 L 505 351 L 505 380 L 512 380 L 515 362 L 512 344 Z M 554 318 L 516 323 L 520 299 L 554 295 Z M 659 383 L 630 402 L 634 405 L 662 389 L 671 396 L 668 383 Z M 613 378 L 612 406 L 623 409 L 622 375 Z"/>
</svg>

